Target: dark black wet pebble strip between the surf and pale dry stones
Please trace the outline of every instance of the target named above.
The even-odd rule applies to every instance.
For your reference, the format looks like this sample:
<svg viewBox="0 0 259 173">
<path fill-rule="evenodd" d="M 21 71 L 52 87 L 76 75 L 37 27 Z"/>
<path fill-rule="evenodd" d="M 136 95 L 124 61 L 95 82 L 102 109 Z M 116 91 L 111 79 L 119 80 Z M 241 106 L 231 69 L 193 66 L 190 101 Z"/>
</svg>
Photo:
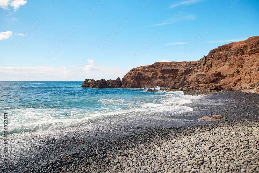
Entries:
<svg viewBox="0 0 259 173">
<path fill-rule="evenodd" d="M 117 160 L 119 162 L 115 162 L 117 158 L 116 155 L 120 154 L 119 157 L 130 158 L 129 156 L 132 156 L 132 155 L 129 155 L 129 152 L 132 152 L 130 150 L 133 150 L 136 147 L 138 148 L 139 144 L 144 144 L 145 146 L 149 142 L 155 143 L 154 140 L 160 140 L 160 139 L 162 140 L 163 138 L 164 138 L 163 140 L 169 140 L 168 141 L 169 143 L 171 142 L 170 140 L 172 140 L 171 137 L 173 136 L 174 133 L 176 134 L 176 136 L 180 137 L 180 136 L 183 136 L 184 134 L 183 132 L 195 133 L 194 131 L 195 131 L 195 128 L 197 129 L 197 127 L 203 128 L 207 126 L 207 128 L 213 128 L 213 126 L 215 125 L 219 126 L 220 124 L 224 125 L 227 123 L 228 124 L 235 123 L 235 121 L 236 122 L 244 121 L 242 119 L 250 119 L 249 121 L 254 121 L 255 123 L 258 124 L 258 109 L 259 109 L 258 102 L 252 102 L 252 103 L 243 102 L 246 100 L 253 100 L 253 99 L 257 100 L 259 98 L 258 95 L 259 94 L 248 94 L 248 93 L 241 93 L 241 92 L 224 92 L 224 93 L 204 95 L 202 98 L 203 102 L 199 103 L 198 106 L 196 103 L 188 103 L 184 105 L 184 106 L 192 107 L 194 109 L 193 111 L 174 115 L 174 118 L 186 118 L 189 120 L 197 120 L 198 117 L 211 115 L 211 114 L 221 114 L 221 115 L 226 114 L 226 116 L 228 116 L 229 118 L 227 120 L 222 120 L 222 121 L 201 122 L 204 125 L 192 126 L 191 124 L 189 124 L 189 126 L 170 127 L 170 126 L 166 126 L 165 124 L 161 124 L 158 127 L 155 127 L 155 126 L 146 127 L 141 125 L 140 123 L 140 124 L 134 125 L 133 127 L 125 126 L 124 128 L 121 128 L 120 131 L 117 131 L 117 132 L 115 132 L 115 130 L 112 131 L 112 129 L 110 129 L 111 131 L 106 131 L 106 133 L 98 132 L 95 134 L 91 134 L 91 136 L 86 135 L 87 133 L 90 134 L 91 132 L 85 132 L 85 133 L 73 132 L 74 137 L 65 136 L 64 138 L 61 138 L 61 139 L 54 139 L 54 140 L 50 139 L 46 141 L 45 149 L 43 148 L 42 150 L 38 150 L 39 153 L 35 153 L 34 156 L 21 157 L 22 160 L 16 161 L 17 165 L 13 164 L 9 166 L 10 169 L 17 170 L 17 171 L 12 171 L 10 169 L 8 171 L 9 172 L 32 172 L 33 170 L 33 172 L 46 172 L 47 170 L 47 172 L 52 172 L 51 170 L 53 170 L 53 172 L 62 172 L 62 169 L 66 168 L 66 169 L 69 169 L 69 171 L 65 171 L 65 172 L 82 172 L 82 171 L 87 172 L 86 170 L 89 171 L 89 169 L 87 168 L 91 168 L 91 169 L 93 167 L 98 168 L 99 165 L 102 165 L 100 167 L 100 170 L 102 171 L 100 172 L 106 172 L 107 170 L 105 171 L 105 169 L 102 168 L 102 167 L 106 168 L 106 166 L 108 166 L 106 169 L 112 168 L 110 172 L 114 172 L 113 171 L 114 166 L 121 164 L 119 163 L 121 160 Z M 231 103 L 230 100 L 232 100 L 232 102 L 235 104 L 228 104 L 228 103 Z M 210 102 L 215 103 L 215 105 L 210 105 Z M 163 134 L 163 135 L 159 135 L 160 137 L 157 137 L 156 136 L 157 134 Z M 84 137 L 82 137 L 82 135 Z M 62 144 L 65 144 L 65 145 L 62 145 Z M 125 154 L 127 153 L 128 157 L 126 157 L 125 154 L 124 156 L 121 156 L 123 154 L 119 153 L 120 150 L 118 150 L 118 147 L 122 148 L 123 151 L 126 150 L 127 152 L 121 152 L 121 153 L 125 153 Z M 141 149 L 139 150 L 140 152 L 142 151 L 150 152 L 147 147 L 143 148 L 142 145 L 139 147 L 142 147 L 142 148 L 139 148 Z M 154 151 L 156 151 L 156 149 Z M 106 156 L 105 158 L 101 159 L 101 156 L 105 154 L 107 154 L 108 157 Z M 109 154 L 111 154 L 111 156 L 109 156 Z M 109 158 L 108 161 L 107 161 L 107 158 Z M 140 163 L 146 163 L 144 161 L 145 159 L 142 158 L 142 156 L 140 158 L 142 159 L 142 160 L 139 160 Z M 166 159 L 169 160 L 170 158 L 166 158 Z M 84 166 L 84 170 L 80 170 L 80 171 L 76 170 L 77 165 L 82 168 L 82 165 L 86 164 L 87 162 L 90 163 L 90 160 L 95 162 L 91 162 L 91 164 L 88 167 L 87 165 Z M 147 157 L 147 160 L 148 160 L 148 157 Z M 161 161 L 161 159 L 157 161 Z M 28 165 L 28 163 L 30 164 Z M 114 165 L 115 163 L 117 164 Z M 43 166 L 47 166 L 47 168 Z M 73 168 L 75 167 L 75 169 L 72 170 L 71 167 Z M 118 168 L 123 168 L 123 167 L 118 167 Z M 124 168 L 126 169 L 126 167 Z M 141 165 L 140 170 L 141 168 L 144 168 L 144 167 Z M 151 168 L 153 169 L 153 167 Z M 199 169 L 199 168 L 196 168 L 196 169 Z M 98 169 L 96 169 L 96 171 L 94 172 L 98 172 L 97 170 Z M 116 169 L 115 172 L 117 172 L 118 170 Z M 129 169 L 129 170 L 130 172 L 134 172 L 132 169 Z M 93 172 L 93 171 L 91 170 L 90 172 Z M 141 171 L 138 171 L 138 172 L 141 172 Z"/>
</svg>

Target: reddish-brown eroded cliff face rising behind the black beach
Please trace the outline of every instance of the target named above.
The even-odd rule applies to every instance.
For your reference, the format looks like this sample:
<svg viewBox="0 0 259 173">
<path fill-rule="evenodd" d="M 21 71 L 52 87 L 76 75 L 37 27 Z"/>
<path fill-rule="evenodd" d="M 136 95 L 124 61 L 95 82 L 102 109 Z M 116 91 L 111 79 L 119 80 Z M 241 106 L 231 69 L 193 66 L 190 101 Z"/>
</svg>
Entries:
<svg viewBox="0 0 259 173">
<path fill-rule="evenodd" d="M 158 62 L 133 68 L 122 79 L 125 88 L 166 87 L 184 91 L 239 91 L 259 81 L 259 36 L 211 50 L 199 61 Z"/>
</svg>

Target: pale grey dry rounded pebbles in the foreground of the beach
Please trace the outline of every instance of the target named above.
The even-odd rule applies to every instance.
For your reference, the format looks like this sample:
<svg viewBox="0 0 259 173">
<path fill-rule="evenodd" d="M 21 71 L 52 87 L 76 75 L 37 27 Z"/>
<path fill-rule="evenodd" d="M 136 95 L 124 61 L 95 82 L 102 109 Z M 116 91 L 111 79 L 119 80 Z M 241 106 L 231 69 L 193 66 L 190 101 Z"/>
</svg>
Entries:
<svg viewBox="0 0 259 173">
<path fill-rule="evenodd" d="M 150 143 L 101 156 L 110 163 L 93 162 L 86 172 L 258 172 L 258 130 L 258 121 L 240 121 L 170 137 L 158 134 Z"/>
</svg>

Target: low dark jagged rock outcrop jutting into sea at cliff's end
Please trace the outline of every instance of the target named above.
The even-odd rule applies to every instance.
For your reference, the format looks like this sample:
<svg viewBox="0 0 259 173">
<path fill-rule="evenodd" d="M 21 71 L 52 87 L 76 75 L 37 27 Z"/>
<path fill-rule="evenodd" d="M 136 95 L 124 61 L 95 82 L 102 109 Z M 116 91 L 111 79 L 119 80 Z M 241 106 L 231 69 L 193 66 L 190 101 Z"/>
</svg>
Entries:
<svg viewBox="0 0 259 173">
<path fill-rule="evenodd" d="M 93 79 L 85 79 L 82 87 L 90 87 L 90 88 L 120 88 L 122 85 L 120 78 L 116 80 L 93 80 Z"/>
</svg>

